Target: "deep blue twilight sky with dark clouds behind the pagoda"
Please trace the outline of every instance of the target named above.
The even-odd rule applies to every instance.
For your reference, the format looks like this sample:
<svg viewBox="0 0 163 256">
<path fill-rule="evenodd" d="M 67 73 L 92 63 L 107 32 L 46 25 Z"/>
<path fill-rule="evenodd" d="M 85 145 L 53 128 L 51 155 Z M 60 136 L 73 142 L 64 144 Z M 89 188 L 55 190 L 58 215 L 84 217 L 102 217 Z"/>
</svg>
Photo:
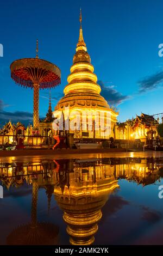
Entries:
<svg viewBox="0 0 163 256">
<path fill-rule="evenodd" d="M 61 85 L 51 90 L 54 109 L 70 74 L 80 7 L 91 63 L 102 95 L 120 112 L 118 120 L 163 112 L 162 0 L 7 0 L 0 4 L 0 123 L 32 120 L 33 90 L 18 87 L 9 66 L 15 59 L 35 57 L 37 38 L 39 57 L 61 69 Z M 48 109 L 48 92 L 40 91 L 40 117 Z"/>
</svg>

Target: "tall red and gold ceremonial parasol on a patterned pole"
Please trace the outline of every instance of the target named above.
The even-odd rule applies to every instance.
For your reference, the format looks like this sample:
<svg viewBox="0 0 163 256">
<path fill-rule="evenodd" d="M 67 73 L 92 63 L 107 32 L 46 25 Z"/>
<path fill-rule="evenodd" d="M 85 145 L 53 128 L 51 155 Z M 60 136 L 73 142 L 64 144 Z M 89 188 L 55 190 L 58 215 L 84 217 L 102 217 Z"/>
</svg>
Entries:
<svg viewBox="0 0 163 256">
<path fill-rule="evenodd" d="M 11 78 L 21 86 L 34 88 L 33 127 L 39 130 L 39 89 L 53 88 L 61 82 L 58 66 L 38 57 L 38 40 L 36 41 L 36 58 L 15 60 L 10 65 Z"/>
</svg>

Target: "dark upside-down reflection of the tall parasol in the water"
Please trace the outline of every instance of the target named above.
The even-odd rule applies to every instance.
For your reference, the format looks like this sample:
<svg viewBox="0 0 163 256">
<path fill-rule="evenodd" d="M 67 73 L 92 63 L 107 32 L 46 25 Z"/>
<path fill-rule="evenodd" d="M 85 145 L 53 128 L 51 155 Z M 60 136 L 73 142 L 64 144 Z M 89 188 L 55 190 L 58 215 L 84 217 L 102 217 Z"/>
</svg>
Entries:
<svg viewBox="0 0 163 256">
<path fill-rule="evenodd" d="M 52 223 L 37 222 L 39 185 L 33 180 L 31 222 L 14 229 L 7 237 L 8 245 L 55 245 L 59 228 Z"/>
</svg>

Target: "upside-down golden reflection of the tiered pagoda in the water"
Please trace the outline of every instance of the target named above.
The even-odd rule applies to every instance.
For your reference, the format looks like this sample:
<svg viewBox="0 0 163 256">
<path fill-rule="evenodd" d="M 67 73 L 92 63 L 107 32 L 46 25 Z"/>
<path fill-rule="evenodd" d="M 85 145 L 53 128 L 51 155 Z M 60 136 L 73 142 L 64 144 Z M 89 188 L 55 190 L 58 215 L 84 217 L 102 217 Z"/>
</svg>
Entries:
<svg viewBox="0 0 163 256">
<path fill-rule="evenodd" d="M 62 172 L 62 175 L 65 175 Z M 63 180 L 62 177 L 60 177 Z M 68 181 L 68 182 L 67 182 Z M 115 190 L 114 173 L 103 172 L 101 166 L 74 167 L 68 172 L 64 190 L 62 184 L 54 189 L 55 199 L 64 211 L 67 233 L 72 245 L 91 245 L 102 218 L 101 209 Z"/>
</svg>

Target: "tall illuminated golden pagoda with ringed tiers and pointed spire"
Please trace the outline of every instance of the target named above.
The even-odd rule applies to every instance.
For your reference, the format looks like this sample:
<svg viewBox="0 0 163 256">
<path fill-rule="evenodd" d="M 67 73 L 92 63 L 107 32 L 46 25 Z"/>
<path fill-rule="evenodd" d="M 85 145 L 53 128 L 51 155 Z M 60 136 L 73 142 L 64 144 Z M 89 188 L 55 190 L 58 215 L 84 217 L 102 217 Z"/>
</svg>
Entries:
<svg viewBox="0 0 163 256">
<path fill-rule="evenodd" d="M 55 107 L 54 116 L 60 117 L 60 113 L 67 115 L 66 110 L 68 108 L 68 127 L 69 132 L 74 133 L 74 124 L 77 118 L 80 120 L 78 125 L 79 133 L 87 133 L 85 137 L 87 138 L 104 138 L 108 139 L 113 135 L 113 127 L 116 123 L 116 117 L 118 115 L 113 109 L 108 105 L 108 102 L 100 95 L 101 87 L 97 84 L 97 76 L 93 73 L 94 68 L 91 64 L 91 58 L 87 53 L 86 44 L 83 39 L 82 30 L 82 12 L 80 10 L 80 30 L 79 30 L 79 40 L 76 47 L 76 53 L 73 57 L 73 65 L 71 66 L 71 74 L 68 75 L 68 84 L 65 86 L 64 94 L 65 96 L 58 102 Z M 110 129 L 109 134 L 102 132 L 105 129 L 102 128 L 97 118 L 95 118 L 95 113 L 99 117 L 103 114 L 104 125 L 103 127 L 108 127 Z M 84 124 L 81 121 L 81 117 L 84 116 Z M 91 118 L 92 117 L 92 118 Z M 66 117 L 65 117 L 66 119 Z M 88 125 L 91 125 L 92 129 L 88 129 Z M 99 123 L 99 129 L 95 126 Z M 83 127 L 82 127 L 83 126 Z M 76 137 L 76 134 L 75 136 Z"/>
</svg>

